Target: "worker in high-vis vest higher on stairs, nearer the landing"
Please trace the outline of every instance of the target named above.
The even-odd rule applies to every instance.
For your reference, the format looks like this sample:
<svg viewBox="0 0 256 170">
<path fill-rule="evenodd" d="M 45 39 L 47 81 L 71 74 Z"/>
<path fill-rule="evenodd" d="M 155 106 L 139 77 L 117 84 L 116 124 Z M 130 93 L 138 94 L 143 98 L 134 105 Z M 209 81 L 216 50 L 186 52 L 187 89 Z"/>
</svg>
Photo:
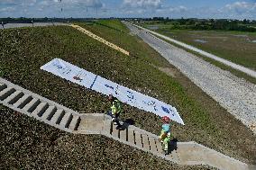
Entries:
<svg viewBox="0 0 256 170">
<path fill-rule="evenodd" d="M 123 103 L 119 101 L 116 97 L 114 97 L 112 94 L 108 95 L 108 101 L 111 102 L 111 117 L 112 121 L 115 121 L 117 124 L 116 129 L 121 129 L 122 125 L 119 122 L 119 116 L 123 112 Z"/>
</svg>

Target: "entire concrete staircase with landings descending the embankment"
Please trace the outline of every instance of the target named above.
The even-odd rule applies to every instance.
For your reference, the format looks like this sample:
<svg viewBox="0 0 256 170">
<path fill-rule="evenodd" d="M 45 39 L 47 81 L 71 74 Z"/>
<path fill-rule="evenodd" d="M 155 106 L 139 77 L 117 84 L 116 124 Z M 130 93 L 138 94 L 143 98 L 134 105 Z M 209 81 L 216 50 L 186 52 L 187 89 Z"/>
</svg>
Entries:
<svg viewBox="0 0 256 170">
<path fill-rule="evenodd" d="M 170 154 L 161 153 L 158 136 L 123 122 L 123 130 L 116 130 L 111 117 L 102 113 L 80 114 L 38 94 L 0 78 L 0 103 L 60 130 L 75 134 L 100 134 L 123 144 L 149 152 L 178 165 L 206 165 L 219 169 L 254 169 L 232 157 L 224 156 L 196 142 L 171 142 Z M 256 168 L 255 168 L 256 169 Z"/>
</svg>

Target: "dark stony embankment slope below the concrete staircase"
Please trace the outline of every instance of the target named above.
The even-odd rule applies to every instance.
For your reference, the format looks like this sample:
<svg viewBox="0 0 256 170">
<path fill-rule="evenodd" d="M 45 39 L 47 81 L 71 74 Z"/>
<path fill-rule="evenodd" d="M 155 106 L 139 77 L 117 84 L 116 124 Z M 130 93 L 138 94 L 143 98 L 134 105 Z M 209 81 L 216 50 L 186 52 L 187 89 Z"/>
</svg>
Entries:
<svg viewBox="0 0 256 170">
<path fill-rule="evenodd" d="M 73 135 L 0 105 L 0 169 L 211 169 L 172 165 L 100 135 Z"/>
</svg>

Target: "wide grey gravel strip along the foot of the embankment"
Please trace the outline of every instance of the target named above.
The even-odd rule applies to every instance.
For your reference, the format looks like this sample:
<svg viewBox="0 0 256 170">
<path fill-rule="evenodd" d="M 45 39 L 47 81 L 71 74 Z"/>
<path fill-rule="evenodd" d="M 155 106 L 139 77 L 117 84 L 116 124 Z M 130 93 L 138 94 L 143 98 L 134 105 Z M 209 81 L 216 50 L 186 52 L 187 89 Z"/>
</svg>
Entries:
<svg viewBox="0 0 256 170">
<path fill-rule="evenodd" d="M 132 25 L 128 27 L 256 134 L 256 85 L 148 32 L 139 31 Z"/>
</svg>

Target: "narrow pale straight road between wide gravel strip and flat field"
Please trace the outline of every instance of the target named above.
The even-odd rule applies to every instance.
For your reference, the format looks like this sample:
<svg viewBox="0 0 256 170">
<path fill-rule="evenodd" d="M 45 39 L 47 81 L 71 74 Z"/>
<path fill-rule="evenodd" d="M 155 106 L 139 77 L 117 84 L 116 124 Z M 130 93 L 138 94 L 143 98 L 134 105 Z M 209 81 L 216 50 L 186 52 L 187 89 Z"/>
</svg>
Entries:
<svg viewBox="0 0 256 170">
<path fill-rule="evenodd" d="M 206 51 L 204 51 L 204 50 L 197 49 L 197 48 L 195 48 L 195 47 L 193 47 L 193 46 L 187 45 L 186 43 L 180 42 L 180 41 L 178 41 L 178 40 L 171 39 L 171 38 L 169 38 L 169 37 L 167 37 L 167 36 L 164 36 L 164 35 L 161 35 L 160 33 L 155 32 L 155 31 L 150 31 L 150 30 L 145 29 L 145 28 L 142 28 L 142 27 L 140 27 L 140 26 L 138 26 L 138 25 L 136 25 L 136 26 L 139 27 L 139 28 L 141 28 L 141 29 L 144 30 L 144 31 L 151 32 L 152 34 L 154 34 L 154 35 L 156 35 L 156 36 L 159 36 L 160 38 L 163 38 L 163 39 L 165 39 L 165 40 L 169 40 L 169 41 L 171 41 L 171 42 L 174 42 L 174 43 L 176 43 L 176 44 L 178 44 L 178 45 L 180 45 L 181 47 L 184 47 L 184 48 L 186 48 L 186 49 L 190 49 L 190 50 L 196 51 L 196 52 L 198 52 L 199 54 L 202 54 L 202 55 L 206 56 L 207 58 L 215 59 L 216 61 L 219 61 L 219 62 L 223 63 L 223 64 L 226 65 L 226 66 L 233 67 L 234 69 L 237 69 L 237 70 L 239 70 L 239 71 L 242 71 L 243 73 L 245 73 L 245 74 L 247 74 L 247 75 L 249 75 L 249 76 L 253 76 L 253 77 L 256 78 L 256 71 L 254 71 L 254 70 L 251 70 L 251 69 L 249 69 L 249 68 L 247 68 L 247 67 L 242 67 L 242 66 L 240 66 L 240 65 L 234 64 L 233 62 L 231 62 L 231 61 L 229 61 L 229 60 L 226 60 L 226 59 L 224 59 L 224 58 L 218 58 L 217 56 L 215 56 L 215 55 L 213 55 L 213 54 L 210 54 L 210 53 L 208 53 L 208 52 L 206 52 Z"/>
</svg>

